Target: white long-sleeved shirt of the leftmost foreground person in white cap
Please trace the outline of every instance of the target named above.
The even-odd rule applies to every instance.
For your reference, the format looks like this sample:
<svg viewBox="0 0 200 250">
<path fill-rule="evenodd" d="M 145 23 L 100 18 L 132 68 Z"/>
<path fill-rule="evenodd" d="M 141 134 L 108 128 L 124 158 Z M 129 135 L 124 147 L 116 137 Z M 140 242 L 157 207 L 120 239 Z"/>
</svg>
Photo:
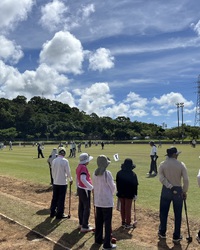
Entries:
<svg viewBox="0 0 200 250">
<path fill-rule="evenodd" d="M 67 185 L 67 179 L 72 181 L 71 170 L 69 161 L 63 156 L 58 155 L 52 162 L 52 177 L 53 184 L 55 185 Z"/>
</svg>

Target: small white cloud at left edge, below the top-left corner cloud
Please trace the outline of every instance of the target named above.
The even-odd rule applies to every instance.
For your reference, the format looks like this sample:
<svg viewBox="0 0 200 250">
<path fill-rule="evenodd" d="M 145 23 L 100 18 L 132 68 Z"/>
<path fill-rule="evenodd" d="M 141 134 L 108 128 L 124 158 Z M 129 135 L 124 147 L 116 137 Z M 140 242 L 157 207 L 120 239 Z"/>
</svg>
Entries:
<svg viewBox="0 0 200 250">
<path fill-rule="evenodd" d="M 10 41 L 0 35 L 0 59 L 15 64 L 22 56 L 21 46 L 16 45 L 14 41 Z"/>
</svg>

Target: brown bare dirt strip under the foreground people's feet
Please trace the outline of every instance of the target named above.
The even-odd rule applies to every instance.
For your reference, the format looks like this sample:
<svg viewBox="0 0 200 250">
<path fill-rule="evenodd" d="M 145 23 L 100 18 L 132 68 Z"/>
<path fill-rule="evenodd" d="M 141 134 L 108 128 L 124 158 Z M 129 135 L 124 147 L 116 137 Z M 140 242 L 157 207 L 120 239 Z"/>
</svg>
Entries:
<svg viewBox="0 0 200 250">
<path fill-rule="evenodd" d="M 16 179 L 11 179 L 7 177 L 0 176 L 0 192 L 7 195 L 10 199 L 23 200 L 25 204 L 32 204 L 35 207 L 41 209 L 48 209 L 51 201 L 52 191 L 51 187 L 44 185 L 35 185 L 28 183 L 26 181 L 19 181 Z M 71 207 L 71 220 L 78 224 L 77 220 L 77 207 L 78 199 L 75 194 L 72 195 L 72 207 Z M 66 199 L 66 213 L 68 208 L 68 199 Z M 1 212 L 1 211 L 0 211 Z M 9 216 L 9 214 L 7 214 Z M 143 245 L 144 249 L 158 249 L 158 250 L 197 250 L 200 249 L 200 245 L 195 240 L 196 232 L 198 231 L 199 225 L 195 221 L 190 221 L 191 235 L 193 236 L 193 242 L 188 246 L 186 237 L 187 228 L 185 220 L 183 219 L 182 234 L 184 240 L 180 245 L 176 246 L 172 243 L 171 235 L 173 230 L 173 219 L 169 218 L 168 221 L 168 233 L 166 241 L 159 241 L 157 237 L 158 229 L 158 213 L 152 212 L 150 210 L 144 210 L 137 208 L 137 228 L 134 230 L 122 229 L 120 226 L 120 214 L 114 209 L 113 214 L 113 235 L 118 241 L 133 241 L 133 244 Z M 91 223 L 94 223 L 93 212 L 91 213 Z M 30 234 L 30 233 L 29 233 Z M 34 238 L 34 237 L 33 237 Z M 7 249 L 24 249 L 24 250 L 35 250 L 35 249 L 54 249 L 60 250 L 55 244 L 36 237 L 35 240 L 30 240 L 27 238 L 27 229 L 20 227 L 17 224 L 4 220 L 0 217 L 0 250 Z M 81 248 L 79 248 L 81 249 Z M 92 248 L 90 248 L 92 249 Z M 119 248 L 118 248 L 119 249 Z M 133 248 L 136 249 L 136 248 Z"/>
</svg>

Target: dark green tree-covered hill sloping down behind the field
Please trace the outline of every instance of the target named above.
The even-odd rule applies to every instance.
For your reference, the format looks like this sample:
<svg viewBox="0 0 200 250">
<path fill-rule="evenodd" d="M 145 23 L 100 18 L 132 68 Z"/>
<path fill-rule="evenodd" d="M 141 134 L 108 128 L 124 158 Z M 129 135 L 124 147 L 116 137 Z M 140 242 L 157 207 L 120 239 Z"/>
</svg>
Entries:
<svg viewBox="0 0 200 250">
<path fill-rule="evenodd" d="M 161 125 L 86 114 L 58 101 L 35 96 L 9 100 L 0 98 L 0 141 L 4 140 L 133 140 L 198 139 L 199 128 L 183 125 L 164 129 Z"/>
</svg>

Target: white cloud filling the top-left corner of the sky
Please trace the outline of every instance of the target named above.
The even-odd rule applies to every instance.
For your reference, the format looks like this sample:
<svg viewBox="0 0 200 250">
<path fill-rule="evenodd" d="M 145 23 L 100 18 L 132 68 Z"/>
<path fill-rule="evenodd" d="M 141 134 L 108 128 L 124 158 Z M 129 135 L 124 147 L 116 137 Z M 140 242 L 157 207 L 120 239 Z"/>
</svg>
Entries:
<svg viewBox="0 0 200 250">
<path fill-rule="evenodd" d="M 0 1 L 0 30 L 13 29 L 14 26 L 27 19 L 35 0 L 1 0 Z"/>
</svg>

